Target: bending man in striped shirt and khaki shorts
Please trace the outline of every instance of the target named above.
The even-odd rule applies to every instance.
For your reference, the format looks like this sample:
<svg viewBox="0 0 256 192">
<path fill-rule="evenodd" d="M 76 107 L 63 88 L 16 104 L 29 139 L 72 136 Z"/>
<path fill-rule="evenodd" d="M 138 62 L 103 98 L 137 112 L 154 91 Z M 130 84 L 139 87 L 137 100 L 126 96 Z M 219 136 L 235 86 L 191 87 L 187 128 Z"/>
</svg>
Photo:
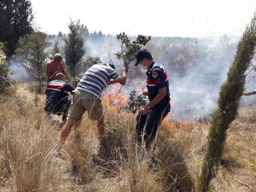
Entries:
<svg viewBox="0 0 256 192">
<path fill-rule="evenodd" d="M 71 127 L 74 126 L 76 120 L 82 119 L 85 111 L 87 111 L 91 120 L 97 121 L 98 136 L 104 134 L 105 125 L 100 95 L 107 85 L 114 83 L 125 85 L 127 72 L 128 68 L 124 68 L 120 77 L 115 71 L 115 66 L 110 63 L 93 65 L 87 70 L 74 90 L 67 122 L 61 130 L 59 144 L 55 149 L 55 153 L 59 153 L 69 136 Z"/>
</svg>

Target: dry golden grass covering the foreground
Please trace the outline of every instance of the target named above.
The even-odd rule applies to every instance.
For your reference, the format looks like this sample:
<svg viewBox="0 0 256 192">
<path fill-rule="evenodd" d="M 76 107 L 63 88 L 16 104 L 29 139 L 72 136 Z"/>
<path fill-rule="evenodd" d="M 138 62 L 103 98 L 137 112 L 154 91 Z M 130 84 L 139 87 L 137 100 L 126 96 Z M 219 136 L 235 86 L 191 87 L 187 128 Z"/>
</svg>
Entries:
<svg viewBox="0 0 256 192">
<path fill-rule="evenodd" d="M 136 141 L 135 116 L 105 108 L 106 135 L 84 115 L 54 157 L 61 118 L 45 118 L 45 96 L 14 85 L 0 100 L 0 191 L 198 191 L 208 124 L 161 125 L 156 150 Z M 38 97 L 35 101 L 36 96 Z M 212 192 L 255 191 L 256 107 L 242 109 L 228 131 Z M 249 186 L 246 186 L 249 185 Z"/>
</svg>

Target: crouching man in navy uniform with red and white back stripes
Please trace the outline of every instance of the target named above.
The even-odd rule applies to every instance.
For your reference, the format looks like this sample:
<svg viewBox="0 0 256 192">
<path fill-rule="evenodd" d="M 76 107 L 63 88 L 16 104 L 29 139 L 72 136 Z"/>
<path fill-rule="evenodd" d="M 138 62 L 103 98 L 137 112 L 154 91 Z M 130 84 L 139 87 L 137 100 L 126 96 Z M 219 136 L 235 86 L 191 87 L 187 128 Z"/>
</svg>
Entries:
<svg viewBox="0 0 256 192">
<path fill-rule="evenodd" d="M 71 99 L 68 98 L 70 92 L 73 94 L 74 88 L 65 82 L 65 75 L 63 73 L 56 74 L 56 80 L 50 81 L 45 90 L 46 102 L 45 111 L 48 120 L 52 118 L 51 114 L 62 116 L 62 121 L 67 119 L 67 112 L 71 104 Z"/>
</svg>

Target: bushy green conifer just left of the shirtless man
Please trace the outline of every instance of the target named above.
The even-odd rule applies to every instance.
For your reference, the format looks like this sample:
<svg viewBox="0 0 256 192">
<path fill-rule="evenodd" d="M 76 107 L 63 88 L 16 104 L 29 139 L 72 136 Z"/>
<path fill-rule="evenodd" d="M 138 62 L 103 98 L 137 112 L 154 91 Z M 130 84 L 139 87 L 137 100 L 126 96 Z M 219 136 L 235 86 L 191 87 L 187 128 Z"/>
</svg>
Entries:
<svg viewBox="0 0 256 192">
<path fill-rule="evenodd" d="M 19 40 L 17 58 L 21 65 L 25 67 L 30 78 L 41 84 L 46 79 L 46 58 L 48 53 L 45 48 L 48 45 L 46 33 L 37 31 L 22 37 Z"/>
</svg>

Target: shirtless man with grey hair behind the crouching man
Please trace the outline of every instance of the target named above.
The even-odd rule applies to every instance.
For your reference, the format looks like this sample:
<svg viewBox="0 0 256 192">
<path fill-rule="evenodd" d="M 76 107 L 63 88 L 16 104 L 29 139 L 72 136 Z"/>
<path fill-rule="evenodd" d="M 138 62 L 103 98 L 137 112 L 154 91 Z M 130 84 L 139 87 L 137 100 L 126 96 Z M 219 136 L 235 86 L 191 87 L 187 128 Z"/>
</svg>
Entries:
<svg viewBox="0 0 256 192">
<path fill-rule="evenodd" d="M 62 55 L 61 54 L 55 54 L 54 60 L 49 61 L 46 64 L 46 75 L 47 75 L 47 83 L 50 81 L 55 80 L 55 76 L 57 73 L 63 73 L 66 76 L 65 70 L 62 66 Z"/>
</svg>

